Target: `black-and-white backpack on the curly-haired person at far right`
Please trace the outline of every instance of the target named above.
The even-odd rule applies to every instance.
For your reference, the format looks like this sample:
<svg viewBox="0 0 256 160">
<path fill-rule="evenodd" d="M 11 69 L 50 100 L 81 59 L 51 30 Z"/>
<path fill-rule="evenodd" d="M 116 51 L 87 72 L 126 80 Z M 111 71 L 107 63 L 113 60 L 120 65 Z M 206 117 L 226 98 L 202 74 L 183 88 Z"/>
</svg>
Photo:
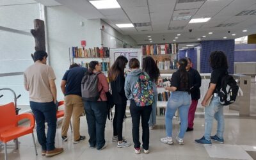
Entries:
<svg viewBox="0 0 256 160">
<path fill-rule="evenodd" d="M 236 101 L 239 86 L 237 85 L 233 76 L 228 75 L 226 72 L 225 76 L 221 79 L 221 88 L 218 91 L 220 103 L 223 106 L 227 106 Z"/>
</svg>

